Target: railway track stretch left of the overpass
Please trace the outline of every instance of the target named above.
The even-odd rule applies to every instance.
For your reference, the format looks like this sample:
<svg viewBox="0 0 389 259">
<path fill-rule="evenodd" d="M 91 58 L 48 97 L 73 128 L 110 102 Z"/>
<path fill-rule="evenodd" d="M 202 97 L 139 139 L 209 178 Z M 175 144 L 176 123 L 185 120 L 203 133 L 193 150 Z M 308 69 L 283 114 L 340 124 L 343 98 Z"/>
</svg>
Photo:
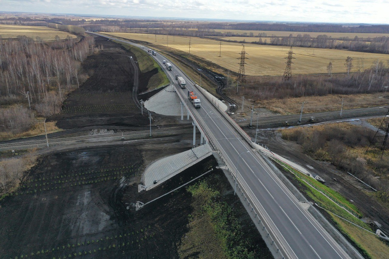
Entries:
<svg viewBox="0 0 389 259">
<path fill-rule="evenodd" d="M 179 130 L 179 129 L 191 129 L 192 126 L 184 126 L 184 127 L 176 127 L 176 128 L 164 128 L 164 129 L 152 129 L 151 132 L 162 132 L 162 131 L 171 131 L 171 130 Z M 102 134 L 102 135 L 94 135 L 94 136 L 81 136 L 81 137 L 70 137 L 70 138 L 54 138 L 49 139 L 49 143 L 55 142 L 64 142 L 64 141 L 74 141 L 74 140 L 84 140 L 84 139 L 92 139 L 92 138 L 104 138 L 104 137 L 120 137 L 124 135 L 135 135 L 141 133 L 149 133 L 150 130 L 141 130 L 141 131 L 131 131 L 125 133 L 111 133 L 111 134 Z M 4 147 L 16 147 L 23 145 L 36 145 L 36 144 L 46 144 L 46 140 L 35 140 L 28 142 L 17 142 L 17 143 L 9 143 L 9 144 L 0 144 L 0 148 Z"/>
</svg>

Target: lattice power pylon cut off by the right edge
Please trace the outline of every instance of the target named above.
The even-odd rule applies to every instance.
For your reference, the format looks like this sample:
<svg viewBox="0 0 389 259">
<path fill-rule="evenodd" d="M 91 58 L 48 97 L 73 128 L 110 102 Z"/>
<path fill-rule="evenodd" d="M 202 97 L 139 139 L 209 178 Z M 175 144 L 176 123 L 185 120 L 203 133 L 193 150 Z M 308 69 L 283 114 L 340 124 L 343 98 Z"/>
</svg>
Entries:
<svg viewBox="0 0 389 259">
<path fill-rule="evenodd" d="M 389 99 L 389 95 L 384 96 L 383 98 Z M 371 141 L 369 147 L 366 150 L 366 152 L 382 151 L 381 158 L 384 155 L 385 151 L 389 151 L 389 143 L 387 144 L 389 134 L 389 107 L 386 108 L 388 108 L 388 111 L 386 112 L 386 115 L 382 120 L 381 125 L 378 127 L 378 130 L 375 133 L 373 140 Z"/>
</svg>

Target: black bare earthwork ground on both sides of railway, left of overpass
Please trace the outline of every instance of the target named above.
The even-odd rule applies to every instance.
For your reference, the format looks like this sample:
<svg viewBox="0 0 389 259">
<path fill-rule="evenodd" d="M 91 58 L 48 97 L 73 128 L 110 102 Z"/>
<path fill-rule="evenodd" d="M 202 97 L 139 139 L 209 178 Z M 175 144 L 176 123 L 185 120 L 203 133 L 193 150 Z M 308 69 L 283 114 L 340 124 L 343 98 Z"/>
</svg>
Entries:
<svg viewBox="0 0 389 259">
<path fill-rule="evenodd" d="M 88 80 L 68 95 L 60 114 L 49 120 L 57 121 L 64 129 L 60 134 L 68 136 L 90 134 L 93 128 L 148 129 L 147 111 L 140 114 L 133 91 L 144 91 L 151 75 L 138 71 L 137 80 L 129 58 L 132 53 L 101 37 L 95 39 L 103 51 L 82 64 Z M 175 117 L 153 114 L 153 128 L 179 123 Z M 219 219 L 205 214 L 199 198 L 193 190 L 188 191 L 200 188 L 199 183 L 216 191 L 212 203 L 231 209 L 227 218 L 233 215 L 234 229 L 238 222 L 241 233 L 234 242 L 249 244 L 248 251 L 255 258 L 272 258 L 224 173 L 215 168 L 217 162 L 212 156 L 152 190 L 138 193 L 148 165 L 193 147 L 191 129 L 169 134 L 165 138 L 148 138 L 147 134 L 131 141 L 119 137 L 39 147 L 37 163 L 23 174 L 19 188 L 0 200 L 0 258 L 179 258 L 212 254 L 213 258 L 225 258 L 223 243 L 212 225 Z M 214 171 L 135 211 L 137 201 L 151 201 L 210 168 Z M 201 228 L 191 227 L 193 224 Z"/>
</svg>

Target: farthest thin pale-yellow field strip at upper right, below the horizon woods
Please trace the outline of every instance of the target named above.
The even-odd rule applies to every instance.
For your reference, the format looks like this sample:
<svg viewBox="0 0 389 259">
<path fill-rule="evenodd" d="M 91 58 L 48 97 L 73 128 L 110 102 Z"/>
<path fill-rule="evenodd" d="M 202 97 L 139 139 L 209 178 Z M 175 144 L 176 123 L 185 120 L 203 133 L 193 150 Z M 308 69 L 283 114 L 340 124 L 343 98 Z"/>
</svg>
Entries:
<svg viewBox="0 0 389 259">
<path fill-rule="evenodd" d="M 243 34 L 247 33 L 250 34 L 251 32 L 254 34 L 254 36 L 258 35 L 258 33 L 266 33 L 266 35 L 272 36 L 289 36 L 292 34 L 293 36 L 297 36 L 298 34 L 304 35 L 309 34 L 311 37 L 317 37 L 317 35 L 327 35 L 331 36 L 333 38 L 340 38 L 340 37 L 349 37 L 350 39 L 354 39 L 355 36 L 367 38 L 367 37 L 381 37 L 381 36 L 389 36 L 389 33 L 345 33 L 345 32 L 279 32 L 279 31 L 246 31 L 246 30 L 218 30 L 215 29 L 215 32 L 231 32 L 231 33 L 237 33 L 237 34 Z"/>
</svg>

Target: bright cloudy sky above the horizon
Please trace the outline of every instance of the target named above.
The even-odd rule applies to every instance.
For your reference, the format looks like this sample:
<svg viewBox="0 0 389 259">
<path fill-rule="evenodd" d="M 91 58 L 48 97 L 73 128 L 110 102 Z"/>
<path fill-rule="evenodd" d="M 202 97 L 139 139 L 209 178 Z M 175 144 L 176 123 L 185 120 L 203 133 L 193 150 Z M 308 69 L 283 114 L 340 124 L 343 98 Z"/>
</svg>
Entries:
<svg viewBox="0 0 389 259">
<path fill-rule="evenodd" d="M 389 0 L 0 0 L 1 11 L 389 23 Z"/>
</svg>

